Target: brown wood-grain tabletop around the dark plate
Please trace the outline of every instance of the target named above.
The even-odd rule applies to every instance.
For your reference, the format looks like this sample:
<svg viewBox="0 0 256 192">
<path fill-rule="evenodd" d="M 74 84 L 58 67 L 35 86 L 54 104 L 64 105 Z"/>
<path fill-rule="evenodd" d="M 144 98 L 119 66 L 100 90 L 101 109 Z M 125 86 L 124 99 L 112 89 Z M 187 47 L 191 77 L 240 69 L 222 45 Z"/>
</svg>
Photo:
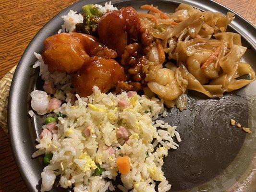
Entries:
<svg viewBox="0 0 256 192">
<path fill-rule="evenodd" d="M 0 79 L 50 18 L 77 0 L 0 0 Z M 256 23 L 256 0 L 217 0 Z M 1 125 L 0 125 L 1 126 Z M 0 128 L 0 192 L 27 192 L 8 135 Z"/>
</svg>

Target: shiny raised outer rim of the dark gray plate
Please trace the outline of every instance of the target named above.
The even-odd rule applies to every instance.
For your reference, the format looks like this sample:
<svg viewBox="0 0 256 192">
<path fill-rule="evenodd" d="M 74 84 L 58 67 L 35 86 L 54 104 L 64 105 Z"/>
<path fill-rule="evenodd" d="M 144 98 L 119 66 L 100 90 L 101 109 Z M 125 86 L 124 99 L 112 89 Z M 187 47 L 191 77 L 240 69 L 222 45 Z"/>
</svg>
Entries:
<svg viewBox="0 0 256 192">
<path fill-rule="evenodd" d="M 116 2 L 121 2 L 122 0 L 113 0 L 112 3 L 116 3 Z M 125 0 L 125 1 L 129 1 L 129 0 Z M 191 4 L 192 6 L 198 6 L 201 4 L 201 6 L 206 6 L 206 7 L 213 7 L 214 9 L 218 8 L 219 10 L 222 10 L 223 12 L 228 12 L 231 11 L 230 9 L 224 7 L 223 5 L 210 0 L 210 1 L 204 1 L 204 0 L 159 0 L 160 1 L 171 1 L 171 2 L 177 2 L 177 3 L 188 3 Z M 26 142 L 21 142 L 24 140 L 24 136 L 25 132 L 23 132 L 21 129 L 25 129 L 22 125 L 22 120 L 19 117 L 19 115 L 22 115 L 22 109 L 20 108 L 23 105 L 26 105 L 26 98 L 22 98 L 22 92 L 23 90 L 21 90 L 21 87 L 24 87 L 24 84 L 27 83 L 26 81 L 24 81 L 24 74 L 26 74 L 28 72 L 28 64 L 27 60 L 29 60 L 31 58 L 31 55 L 29 53 L 31 53 L 32 51 L 36 51 L 37 48 L 37 41 L 38 38 L 40 38 L 40 36 L 43 36 L 44 34 L 47 34 L 47 28 L 52 25 L 55 24 L 56 22 L 58 23 L 58 19 L 60 19 L 61 15 L 63 15 L 65 12 L 69 11 L 70 9 L 72 9 L 73 7 L 79 5 L 79 4 L 83 4 L 83 2 L 86 3 L 102 3 L 105 2 L 104 0 L 89 0 L 89 1 L 85 1 L 85 0 L 80 0 L 72 5 L 70 5 L 69 7 L 65 8 L 64 10 L 62 10 L 61 12 L 59 12 L 57 15 L 55 15 L 51 20 L 49 20 L 49 22 L 47 24 L 45 24 L 40 31 L 36 34 L 36 36 L 34 36 L 34 38 L 31 40 L 31 42 L 28 44 L 27 48 L 25 49 L 21 60 L 19 61 L 19 64 L 17 66 L 17 69 L 15 71 L 15 74 L 13 76 L 12 79 L 12 84 L 11 84 L 11 89 L 10 89 L 10 95 L 9 95 L 9 100 L 8 100 L 8 130 L 9 130 L 9 138 L 11 141 L 11 147 L 12 147 L 12 152 L 13 152 L 13 156 L 16 162 L 16 165 L 22 175 L 22 178 L 28 188 L 28 190 L 30 192 L 37 192 L 38 191 L 38 186 L 36 187 L 35 184 L 35 180 L 33 182 L 31 182 L 31 180 L 33 180 L 33 178 L 29 177 L 29 173 L 31 173 L 31 168 L 27 167 L 28 164 L 27 162 L 25 162 L 26 160 L 26 156 L 22 153 L 20 153 L 21 151 L 25 150 L 25 146 L 26 146 Z M 144 0 L 144 2 L 146 3 L 146 0 Z M 157 3 L 157 2 L 156 2 Z M 231 11 L 233 12 L 233 11 Z M 248 40 L 250 42 L 250 44 L 253 46 L 253 48 L 256 50 L 256 38 L 255 36 L 253 36 L 253 33 L 256 32 L 256 28 L 249 23 L 247 20 L 245 20 L 242 16 L 240 16 L 239 14 L 236 14 L 236 19 L 235 22 L 236 24 L 232 24 L 232 26 L 240 26 L 241 28 L 243 28 L 242 32 L 243 34 L 241 34 L 241 36 L 244 36 L 246 38 L 246 40 Z M 59 22 L 60 23 L 60 22 Z M 57 24 L 58 25 L 58 24 Z M 60 25 L 59 25 L 60 26 Z M 236 26 L 236 27 L 238 27 Z M 245 27 L 246 26 L 246 27 Z M 247 33 L 245 33 L 247 32 Z M 29 76 L 30 74 L 27 74 L 26 76 Z M 26 92 L 26 91 L 24 91 Z M 21 96 L 21 97 L 20 97 Z M 20 134 L 17 134 L 20 133 Z M 24 133 L 24 135 L 23 135 Z M 31 144 L 31 143 L 30 143 Z M 29 144 L 28 144 L 29 145 Z M 250 177 L 249 175 L 247 177 Z M 255 179 L 256 175 L 254 177 L 251 177 L 250 179 Z M 38 182 L 38 181 L 37 181 Z M 234 186 L 235 187 L 235 186 Z"/>
</svg>

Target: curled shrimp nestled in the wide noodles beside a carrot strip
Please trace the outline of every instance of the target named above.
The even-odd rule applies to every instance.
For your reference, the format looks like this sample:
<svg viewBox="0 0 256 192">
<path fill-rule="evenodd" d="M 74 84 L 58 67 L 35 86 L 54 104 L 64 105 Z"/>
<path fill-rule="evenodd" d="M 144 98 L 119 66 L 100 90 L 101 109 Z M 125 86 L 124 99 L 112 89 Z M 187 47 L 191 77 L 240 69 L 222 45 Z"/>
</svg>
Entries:
<svg viewBox="0 0 256 192">
<path fill-rule="evenodd" d="M 200 82 L 206 84 L 209 79 L 219 76 L 219 69 L 215 69 L 215 63 L 210 63 L 206 68 L 201 65 L 210 57 L 211 50 L 199 49 L 194 55 L 187 58 L 188 71 Z"/>
</svg>

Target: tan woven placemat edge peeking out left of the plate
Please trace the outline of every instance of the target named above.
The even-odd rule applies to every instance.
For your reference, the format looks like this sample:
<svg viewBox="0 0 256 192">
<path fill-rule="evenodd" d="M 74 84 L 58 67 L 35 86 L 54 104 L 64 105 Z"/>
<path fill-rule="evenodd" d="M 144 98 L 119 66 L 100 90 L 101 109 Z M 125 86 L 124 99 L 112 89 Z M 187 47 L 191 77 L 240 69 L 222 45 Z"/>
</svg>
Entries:
<svg viewBox="0 0 256 192">
<path fill-rule="evenodd" d="M 17 65 L 16 65 L 17 66 Z M 12 83 L 12 77 L 15 72 L 16 66 L 14 66 L 6 75 L 0 80 L 0 125 L 3 131 L 7 131 L 7 103 Z"/>
</svg>

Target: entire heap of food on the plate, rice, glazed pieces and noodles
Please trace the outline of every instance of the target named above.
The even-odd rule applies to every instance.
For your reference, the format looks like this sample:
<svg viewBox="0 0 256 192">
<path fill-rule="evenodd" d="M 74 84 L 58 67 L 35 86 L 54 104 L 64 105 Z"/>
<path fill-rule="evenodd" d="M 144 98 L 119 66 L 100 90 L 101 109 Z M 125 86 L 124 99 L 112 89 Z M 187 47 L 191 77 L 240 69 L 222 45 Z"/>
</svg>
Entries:
<svg viewBox="0 0 256 192">
<path fill-rule="evenodd" d="M 168 192 L 163 159 L 181 137 L 164 121 L 167 108 L 186 110 L 189 90 L 216 98 L 255 80 L 241 36 L 226 32 L 234 13 L 140 9 L 109 2 L 70 10 L 34 53 L 43 87 L 30 94 L 28 113 L 44 118 L 32 156 L 45 164 L 41 192 L 54 183 L 74 192 Z"/>
</svg>

